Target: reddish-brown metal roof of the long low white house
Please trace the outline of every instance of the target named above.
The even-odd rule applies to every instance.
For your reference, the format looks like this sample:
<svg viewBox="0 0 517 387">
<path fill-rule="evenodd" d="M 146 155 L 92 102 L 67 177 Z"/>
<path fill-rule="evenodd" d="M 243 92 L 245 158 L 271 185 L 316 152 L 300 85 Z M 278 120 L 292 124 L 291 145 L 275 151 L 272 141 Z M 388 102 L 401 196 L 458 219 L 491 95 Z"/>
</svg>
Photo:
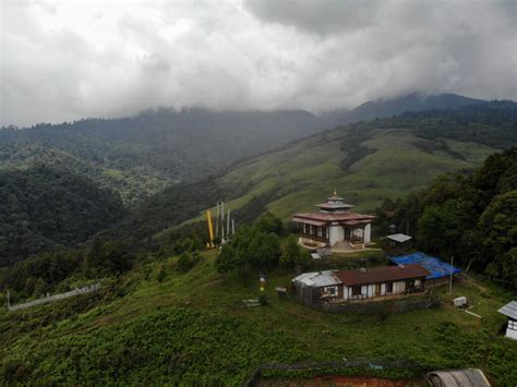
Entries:
<svg viewBox="0 0 517 387">
<path fill-rule="evenodd" d="M 430 273 L 420 265 L 377 266 L 368 269 L 345 270 L 335 274 L 347 287 L 357 285 L 424 278 Z"/>
</svg>

